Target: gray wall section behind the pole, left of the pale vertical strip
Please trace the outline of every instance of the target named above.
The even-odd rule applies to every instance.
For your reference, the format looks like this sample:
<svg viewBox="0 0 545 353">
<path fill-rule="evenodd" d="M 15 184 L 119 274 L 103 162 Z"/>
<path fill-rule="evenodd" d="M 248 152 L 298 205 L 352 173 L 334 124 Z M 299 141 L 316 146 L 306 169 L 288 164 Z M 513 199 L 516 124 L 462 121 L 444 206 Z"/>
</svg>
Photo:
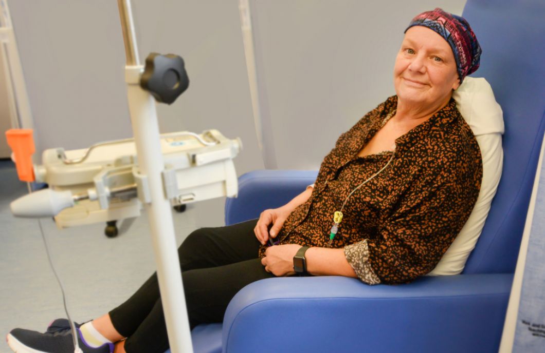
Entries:
<svg viewBox="0 0 545 353">
<path fill-rule="evenodd" d="M 84 148 L 132 135 L 114 0 L 10 1 L 39 143 Z M 158 106 L 161 132 L 219 129 L 240 137 L 239 174 L 263 168 L 253 127 L 236 1 L 133 0 L 138 48 L 177 53 L 190 88 Z"/>
</svg>

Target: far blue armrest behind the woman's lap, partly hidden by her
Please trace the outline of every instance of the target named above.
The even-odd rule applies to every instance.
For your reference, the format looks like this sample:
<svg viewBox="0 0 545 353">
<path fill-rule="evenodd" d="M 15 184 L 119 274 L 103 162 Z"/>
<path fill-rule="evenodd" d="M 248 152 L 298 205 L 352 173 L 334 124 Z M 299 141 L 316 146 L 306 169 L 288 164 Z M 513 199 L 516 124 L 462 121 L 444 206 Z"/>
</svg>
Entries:
<svg viewBox="0 0 545 353">
<path fill-rule="evenodd" d="M 258 218 L 268 208 L 288 203 L 316 180 L 317 171 L 257 170 L 239 177 L 238 197 L 225 202 L 225 224 Z"/>
</svg>

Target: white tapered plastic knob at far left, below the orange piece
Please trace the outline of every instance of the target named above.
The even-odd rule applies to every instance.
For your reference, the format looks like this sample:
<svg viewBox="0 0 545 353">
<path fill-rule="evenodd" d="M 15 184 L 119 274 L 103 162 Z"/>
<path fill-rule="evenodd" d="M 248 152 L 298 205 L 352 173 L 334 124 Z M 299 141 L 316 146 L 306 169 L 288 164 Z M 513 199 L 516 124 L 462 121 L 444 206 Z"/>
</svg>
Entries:
<svg viewBox="0 0 545 353">
<path fill-rule="evenodd" d="M 44 189 L 19 197 L 11 202 L 11 213 L 17 217 L 53 217 L 67 207 L 74 206 L 70 191 Z"/>
</svg>

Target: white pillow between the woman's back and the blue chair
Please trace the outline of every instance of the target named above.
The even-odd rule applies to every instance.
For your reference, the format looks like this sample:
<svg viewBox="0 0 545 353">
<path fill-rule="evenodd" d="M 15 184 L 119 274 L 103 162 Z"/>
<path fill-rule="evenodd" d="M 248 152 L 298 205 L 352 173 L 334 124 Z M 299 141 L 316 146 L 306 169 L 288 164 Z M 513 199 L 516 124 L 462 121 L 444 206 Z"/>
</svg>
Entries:
<svg viewBox="0 0 545 353">
<path fill-rule="evenodd" d="M 466 77 L 452 94 L 459 112 L 471 127 L 482 156 L 482 182 L 475 207 L 452 245 L 428 275 L 457 275 L 462 272 L 469 253 L 485 225 L 490 203 L 501 177 L 504 151 L 503 112 L 494 98 L 492 88 L 484 78 Z"/>
</svg>

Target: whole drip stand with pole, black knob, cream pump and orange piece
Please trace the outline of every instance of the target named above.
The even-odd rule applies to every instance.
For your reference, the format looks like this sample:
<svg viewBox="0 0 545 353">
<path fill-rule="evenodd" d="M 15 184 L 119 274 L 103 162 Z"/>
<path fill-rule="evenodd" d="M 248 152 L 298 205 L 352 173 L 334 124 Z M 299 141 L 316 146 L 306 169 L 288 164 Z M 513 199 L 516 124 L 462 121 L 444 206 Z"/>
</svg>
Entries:
<svg viewBox="0 0 545 353">
<path fill-rule="evenodd" d="M 125 42 L 125 81 L 134 139 L 96 144 L 87 150 L 43 152 L 32 163 L 32 130 L 7 132 L 21 180 L 40 181 L 49 189 L 11 203 L 16 216 L 55 216 L 60 227 L 148 214 L 168 340 L 173 353 L 193 351 L 172 205 L 236 196 L 232 159 L 239 139 L 216 131 L 159 134 L 155 108 L 172 103 L 189 85 L 184 61 L 152 53 L 140 64 L 130 0 L 118 0 Z M 155 98 L 155 100 L 154 100 Z M 76 342 L 77 343 L 77 342 Z"/>
</svg>

